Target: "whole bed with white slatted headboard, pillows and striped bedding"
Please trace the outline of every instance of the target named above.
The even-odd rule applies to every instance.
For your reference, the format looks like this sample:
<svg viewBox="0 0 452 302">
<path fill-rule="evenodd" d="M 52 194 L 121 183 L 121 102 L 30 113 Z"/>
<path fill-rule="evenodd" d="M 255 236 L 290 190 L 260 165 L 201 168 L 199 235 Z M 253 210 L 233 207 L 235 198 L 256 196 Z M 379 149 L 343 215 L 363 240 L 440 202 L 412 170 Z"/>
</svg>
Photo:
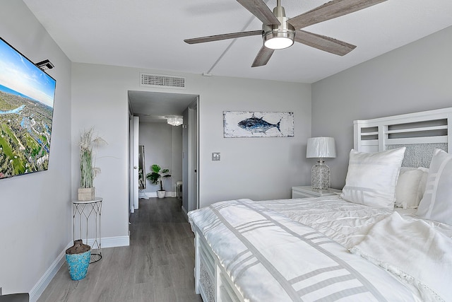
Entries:
<svg viewBox="0 0 452 302">
<path fill-rule="evenodd" d="M 189 212 L 213 301 L 451 301 L 452 108 L 354 122 L 336 196 Z"/>
</svg>

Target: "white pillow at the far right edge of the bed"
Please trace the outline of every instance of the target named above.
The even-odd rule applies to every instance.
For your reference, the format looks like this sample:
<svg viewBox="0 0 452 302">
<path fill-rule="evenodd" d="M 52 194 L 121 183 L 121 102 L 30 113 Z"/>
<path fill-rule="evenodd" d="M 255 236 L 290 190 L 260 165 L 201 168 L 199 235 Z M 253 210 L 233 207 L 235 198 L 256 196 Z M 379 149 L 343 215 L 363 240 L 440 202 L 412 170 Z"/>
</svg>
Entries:
<svg viewBox="0 0 452 302">
<path fill-rule="evenodd" d="M 452 155 L 435 149 L 417 216 L 452 225 Z"/>
</svg>

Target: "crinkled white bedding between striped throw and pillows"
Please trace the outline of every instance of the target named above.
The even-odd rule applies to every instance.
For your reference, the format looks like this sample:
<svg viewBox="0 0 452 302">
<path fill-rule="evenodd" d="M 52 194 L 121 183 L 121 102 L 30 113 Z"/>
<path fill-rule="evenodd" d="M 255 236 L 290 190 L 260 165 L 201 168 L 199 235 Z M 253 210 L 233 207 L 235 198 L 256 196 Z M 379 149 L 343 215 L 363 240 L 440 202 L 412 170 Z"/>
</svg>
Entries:
<svg viewBox="0 0 452 302">
<path fill-rule="evenodd" d="M 315 228 L 419 291 L 422 301 L 452 301 L 452 226 L 415 209 L 376 209 L 338 196 L 261 204 Z"/>
</svg>

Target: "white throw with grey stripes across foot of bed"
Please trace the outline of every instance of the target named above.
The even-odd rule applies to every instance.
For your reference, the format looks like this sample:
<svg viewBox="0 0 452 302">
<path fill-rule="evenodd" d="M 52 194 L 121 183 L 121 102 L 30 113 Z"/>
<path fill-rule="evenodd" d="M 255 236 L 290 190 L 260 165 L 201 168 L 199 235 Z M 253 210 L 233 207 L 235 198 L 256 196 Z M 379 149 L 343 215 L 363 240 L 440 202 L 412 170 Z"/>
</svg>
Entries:
<svg viewBox="0 0 452 302">
<path fill-rule="evenodd" d="M 245 301 L 420 301 L 393 275 L 249 199 L 189 212 Z"/>
</svg>

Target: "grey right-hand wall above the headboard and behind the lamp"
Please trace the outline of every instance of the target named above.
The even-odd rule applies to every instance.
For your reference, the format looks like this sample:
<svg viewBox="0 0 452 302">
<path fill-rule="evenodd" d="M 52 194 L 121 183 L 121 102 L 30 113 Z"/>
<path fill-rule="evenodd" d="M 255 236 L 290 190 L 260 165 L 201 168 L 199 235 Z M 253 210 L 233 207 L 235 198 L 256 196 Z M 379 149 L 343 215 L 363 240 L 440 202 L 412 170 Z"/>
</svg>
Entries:
<svg viewBox="0 0 452 302">
<path fill-rule="evenodd" d="M 452 27 L 312 86 L 313 136 L 335 137 L 332 187 L 345 185 L 353 120 L 452 106 Z"/>
</svg>

